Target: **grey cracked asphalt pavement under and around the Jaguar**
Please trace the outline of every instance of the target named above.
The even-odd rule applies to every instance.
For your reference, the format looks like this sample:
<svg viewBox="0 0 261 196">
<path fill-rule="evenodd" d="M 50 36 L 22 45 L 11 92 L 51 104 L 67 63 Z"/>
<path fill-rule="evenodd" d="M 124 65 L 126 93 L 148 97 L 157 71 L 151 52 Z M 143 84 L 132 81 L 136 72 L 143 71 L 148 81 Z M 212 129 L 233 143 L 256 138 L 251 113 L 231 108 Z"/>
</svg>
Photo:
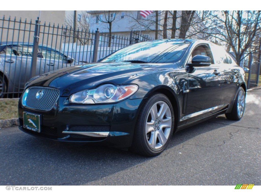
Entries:
<svg viewBox="0 0 261 196">
<path fill-rule="evenodd" d="M 261 185 L 261 89 L 240 121 L 224 115 L 174 134 L 153 158 L 0 129 L 0 185 Z"/>
</svg>

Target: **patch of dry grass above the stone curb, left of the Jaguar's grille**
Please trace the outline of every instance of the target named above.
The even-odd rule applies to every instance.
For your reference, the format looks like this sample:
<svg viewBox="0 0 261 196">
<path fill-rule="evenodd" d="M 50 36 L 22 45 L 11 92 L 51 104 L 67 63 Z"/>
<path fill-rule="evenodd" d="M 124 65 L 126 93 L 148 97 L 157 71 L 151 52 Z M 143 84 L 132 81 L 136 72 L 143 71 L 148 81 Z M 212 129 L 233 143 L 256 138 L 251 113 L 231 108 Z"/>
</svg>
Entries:
<svg viewBox="0 0 261 196">
<path fill-rule="evenodd" d="M 0 120 L 18 118 L 18 99 L 0 100 Z"/>
</svg>

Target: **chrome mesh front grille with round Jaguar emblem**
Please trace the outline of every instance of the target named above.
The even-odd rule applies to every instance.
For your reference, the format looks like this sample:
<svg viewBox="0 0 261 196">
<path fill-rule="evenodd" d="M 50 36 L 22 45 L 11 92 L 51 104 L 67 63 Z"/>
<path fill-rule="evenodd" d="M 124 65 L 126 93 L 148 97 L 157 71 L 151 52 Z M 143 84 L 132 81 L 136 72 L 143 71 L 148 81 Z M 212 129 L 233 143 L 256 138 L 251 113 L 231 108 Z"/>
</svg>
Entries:
<svg viewBox="0 0 261 196">
<path fill-rule="evenodd" d="M 22 97 L 22 105 L 28 108 L 50 111 L 59 97 L 59 90 L 49 87 L 29 87 Z"/>
</svg>

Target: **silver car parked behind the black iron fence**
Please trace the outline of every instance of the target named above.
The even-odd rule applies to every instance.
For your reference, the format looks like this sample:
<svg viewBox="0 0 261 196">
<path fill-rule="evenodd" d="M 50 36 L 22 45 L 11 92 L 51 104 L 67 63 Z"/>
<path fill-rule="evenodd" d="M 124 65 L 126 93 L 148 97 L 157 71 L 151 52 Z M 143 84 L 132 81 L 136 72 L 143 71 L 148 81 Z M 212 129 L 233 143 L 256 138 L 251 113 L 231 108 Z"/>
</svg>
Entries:
<svg viewBox="0 0 261 196">
<path fill-rule="evenodd" d="M 33 44 L 0 43 L 0 97 L 21 93 L 30 79 Z M 79 64 L 63 52 L 47 45 L 38 46 L 35 75 Z"/>
</svg>

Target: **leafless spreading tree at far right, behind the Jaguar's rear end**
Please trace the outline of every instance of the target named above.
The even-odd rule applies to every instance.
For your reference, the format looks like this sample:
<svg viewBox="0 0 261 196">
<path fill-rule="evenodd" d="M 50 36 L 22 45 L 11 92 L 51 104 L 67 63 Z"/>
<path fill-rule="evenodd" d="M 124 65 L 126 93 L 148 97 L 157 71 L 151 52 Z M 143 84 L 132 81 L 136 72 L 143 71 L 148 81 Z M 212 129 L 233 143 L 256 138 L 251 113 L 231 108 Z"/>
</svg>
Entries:
<svg viewBox="0 0 261 196">
<path fill-rule="evenodd" d="M 237 64 L 251 53 L 251 45 L 260 29 L 261 11 L 216 11 L 215 25 L 206 32 L 232 50 Z"/>
</svg>

